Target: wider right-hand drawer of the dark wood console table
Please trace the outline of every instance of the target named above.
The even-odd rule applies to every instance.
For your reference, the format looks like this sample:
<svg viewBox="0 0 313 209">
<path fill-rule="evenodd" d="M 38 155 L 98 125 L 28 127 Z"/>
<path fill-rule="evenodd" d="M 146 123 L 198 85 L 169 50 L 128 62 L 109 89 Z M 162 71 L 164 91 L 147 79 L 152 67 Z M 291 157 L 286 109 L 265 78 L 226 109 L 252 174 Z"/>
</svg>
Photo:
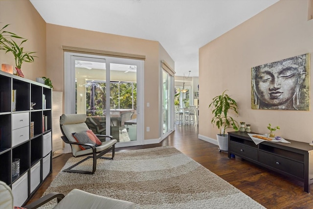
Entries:
<svg viewBox="0 0 313 209">
<path fill-rule="evenodd" d="M 259 151 L 259 162 L 278 170 L 289 173 L 293 176 L 304 178 L 304 164 L 298 163 L 286 158 L 269 154 L 267 152 Z"/>
</svg>

